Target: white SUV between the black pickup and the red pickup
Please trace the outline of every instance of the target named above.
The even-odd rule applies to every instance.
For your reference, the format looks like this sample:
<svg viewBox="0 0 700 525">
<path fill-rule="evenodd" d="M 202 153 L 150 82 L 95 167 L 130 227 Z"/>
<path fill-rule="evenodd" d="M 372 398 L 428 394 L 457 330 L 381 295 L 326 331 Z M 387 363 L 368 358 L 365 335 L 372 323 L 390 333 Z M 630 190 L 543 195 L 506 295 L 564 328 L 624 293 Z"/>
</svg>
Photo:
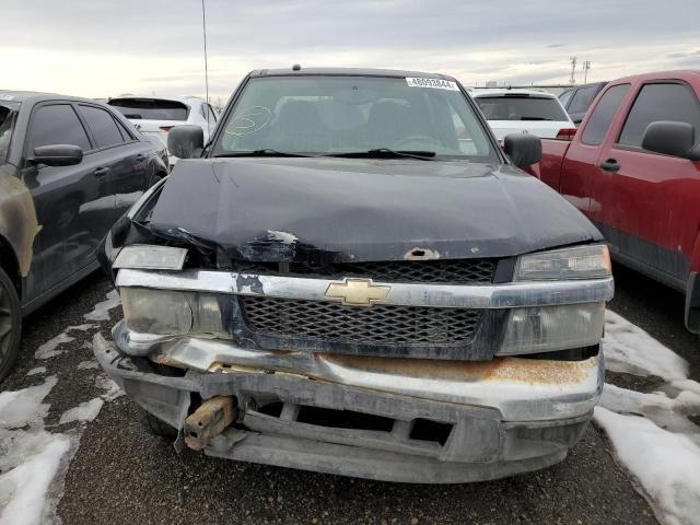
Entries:
<svg viewBox="0 0 700 525">
<path fill-rule="evenodd" d="M 472 90 L 470 93 L 495 138 L 526 132 L 542 139 L 571 140 L 576 127 L 559 100 L 537 90 Z"/>
</svg>

